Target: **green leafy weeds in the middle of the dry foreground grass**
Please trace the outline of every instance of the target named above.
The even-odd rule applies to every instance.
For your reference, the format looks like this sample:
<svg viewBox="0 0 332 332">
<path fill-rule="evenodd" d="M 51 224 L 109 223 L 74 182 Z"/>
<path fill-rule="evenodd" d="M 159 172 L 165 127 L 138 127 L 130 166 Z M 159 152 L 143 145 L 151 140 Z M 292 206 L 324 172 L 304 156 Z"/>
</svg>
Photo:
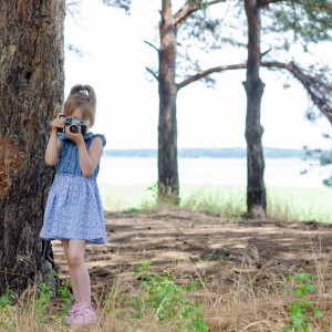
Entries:
<svg viewBox="0 0 332 332">
<path fill-rule="evenodd" d="M 188 291 L 196 288 L 195 281 L 187 286 L 178 286 L 175 276 L 165 270 L 164 274 L 149 272 L 151 263 L 143 263 L 133 277 L 138 277 L 142 293 L 131 298 L 127 303 L 134 308 L 134 318 L 141 318 L 144 313 L 153 312 L 159 321 L 168 321 L 180 318 L 178 328 L 187 331 L 206 332 L 208 326 L 204 320 L 203 307 L 188 297 Z"/>
</svg>

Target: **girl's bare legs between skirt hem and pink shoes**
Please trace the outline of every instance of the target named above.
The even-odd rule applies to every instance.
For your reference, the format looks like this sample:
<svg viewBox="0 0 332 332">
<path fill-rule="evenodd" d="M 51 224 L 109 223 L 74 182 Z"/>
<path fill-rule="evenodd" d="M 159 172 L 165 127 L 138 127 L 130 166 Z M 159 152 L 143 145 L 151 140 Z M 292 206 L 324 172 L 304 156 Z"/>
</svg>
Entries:
<svg viewBox="0 0 332 332">
<path fill-rule="evenodd" d="M 84 261 L 86 241 L 70 239 L 63 240 L 63 243 L 75 301 L 91 304 L 90 276 Z"/>
</svg>

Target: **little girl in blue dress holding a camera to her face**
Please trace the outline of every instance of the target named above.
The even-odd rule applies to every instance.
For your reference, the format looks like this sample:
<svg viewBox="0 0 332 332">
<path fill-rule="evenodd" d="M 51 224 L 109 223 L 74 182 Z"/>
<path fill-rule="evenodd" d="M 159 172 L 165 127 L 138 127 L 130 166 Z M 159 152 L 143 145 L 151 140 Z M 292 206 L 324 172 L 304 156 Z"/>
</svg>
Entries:
<svg viewBox="0 0 332 332">
<path fill-rule="evenodd" d="M 72 133 L 60 115 L 84 118 L 94 124 L 96 97 L 90 85 L 75 85 L 64 104 L 64 114 L 52 122 L 45 151 L 48 166 L 56 166 L 40 237 L 62 242 L 69 264 L 75 302 L 69 310 L 69 324 L 96 322 L 91 307 L 90 274 L 84 262 L 86 243 L 105 243 L 104 212 L 96 184 L 100 159 L 106 139 L 86 131 Z M 59 134 L 59 129 L 63 134 Z M 74 131 L 73 131 L 74 132 Z"/>
</svg>

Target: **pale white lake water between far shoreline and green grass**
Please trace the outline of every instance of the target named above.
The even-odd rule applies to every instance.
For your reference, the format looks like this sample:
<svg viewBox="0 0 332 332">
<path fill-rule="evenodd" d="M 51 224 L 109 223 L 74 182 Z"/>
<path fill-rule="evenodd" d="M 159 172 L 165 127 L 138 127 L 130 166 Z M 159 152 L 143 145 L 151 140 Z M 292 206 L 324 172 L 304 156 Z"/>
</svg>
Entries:
<svg viewBox="0 0 332 332">
<path fill-rule="evenodd" d="M 267 186 L 322 187 L 331 168 L 315 167 L 305 175 L 309 162 L 266 159 Z M 247 160 L 241 158 L 179 158 L 180 185 L 247 185 Z M 98 184 L 112 186 L 151 186 L 157 181 L 157 158 L 102 157 Z"/>
</svg>

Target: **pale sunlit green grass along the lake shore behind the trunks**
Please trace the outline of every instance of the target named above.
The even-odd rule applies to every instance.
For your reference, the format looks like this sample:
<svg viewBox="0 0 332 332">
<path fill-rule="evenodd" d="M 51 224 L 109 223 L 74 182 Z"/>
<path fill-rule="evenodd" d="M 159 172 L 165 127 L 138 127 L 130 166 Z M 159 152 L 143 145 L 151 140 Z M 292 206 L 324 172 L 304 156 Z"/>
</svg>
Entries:
<svg viewBox="0 0 332 332">
<path fill-rule="evenodd" d="M 101 187 L 105 210 L 153 208 L 156 187 Z M 185 186 L 180 206 L 226 218 L 242 218 L 246 212 L 246 188 L 232 186 Z M 332 221 L 332 189 L 267 188 L 268 218 L 283 221 Z"/>
</svg>

